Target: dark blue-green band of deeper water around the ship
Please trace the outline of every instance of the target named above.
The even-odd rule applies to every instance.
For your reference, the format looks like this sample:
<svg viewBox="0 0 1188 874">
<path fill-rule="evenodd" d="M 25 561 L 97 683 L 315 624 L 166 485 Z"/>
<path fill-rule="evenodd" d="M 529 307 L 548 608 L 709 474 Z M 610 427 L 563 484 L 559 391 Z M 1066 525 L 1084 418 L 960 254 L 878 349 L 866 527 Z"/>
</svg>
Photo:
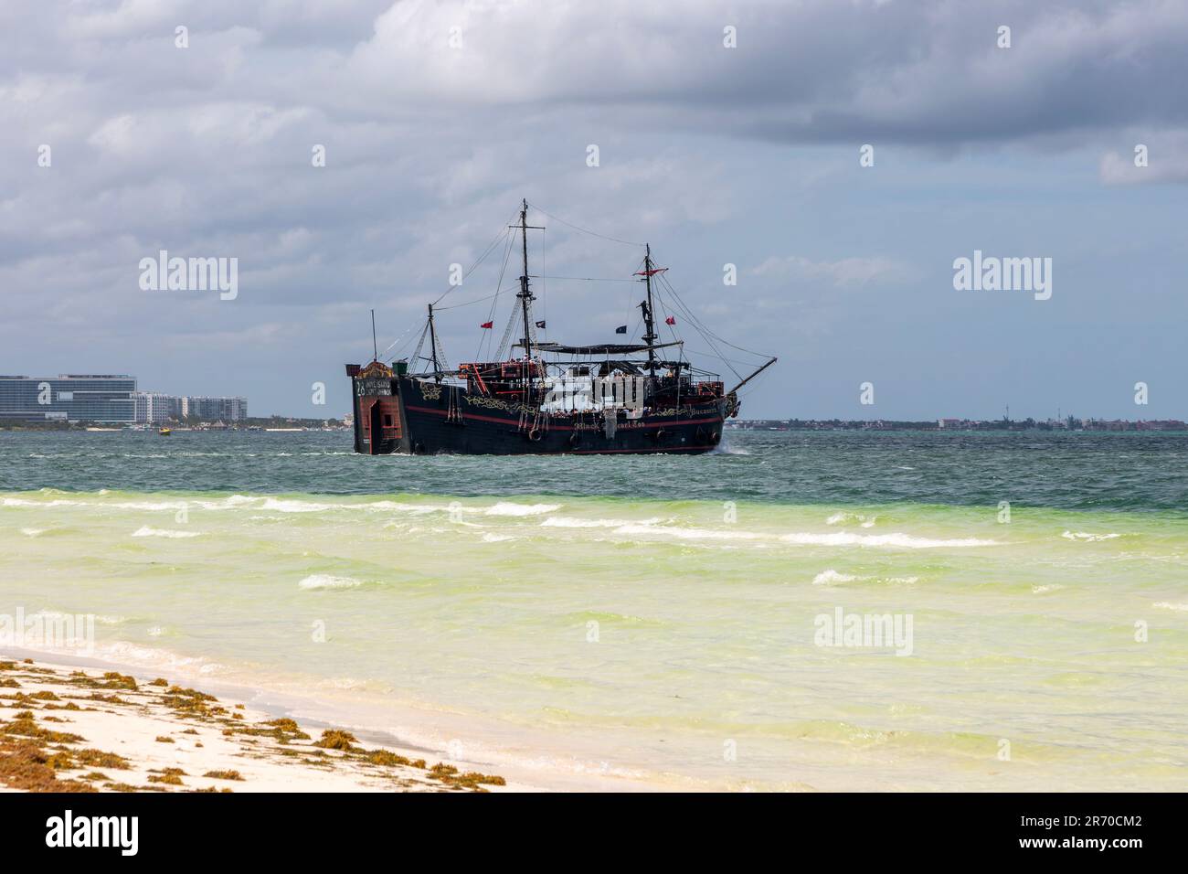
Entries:
<svg viewBox="0 0 1188 874">
<path fill-rule="evenodd" d="M 0 491 L 555 493 L 1188 511 L 1188 434 L 727 432 L 726 452 L 666 457 L 406 458 L 347 433 L 0 433 Z"/>
</svg>

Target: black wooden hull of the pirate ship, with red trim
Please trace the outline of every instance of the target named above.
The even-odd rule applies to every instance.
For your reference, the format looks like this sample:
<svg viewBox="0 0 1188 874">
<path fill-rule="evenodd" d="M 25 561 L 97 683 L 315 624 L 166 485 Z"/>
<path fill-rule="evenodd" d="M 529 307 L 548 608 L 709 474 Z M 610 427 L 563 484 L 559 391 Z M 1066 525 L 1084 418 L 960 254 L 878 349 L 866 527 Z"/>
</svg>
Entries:
<svg viewBox="0 0 1188 874">
<path fill-rule="evenodd" d="M 355 452 L 463 455 L 697 454 L 721 441 L 727 400 L 645 410 L 545 414 L 410 376 L 356 375 Z"/>
</svg>

